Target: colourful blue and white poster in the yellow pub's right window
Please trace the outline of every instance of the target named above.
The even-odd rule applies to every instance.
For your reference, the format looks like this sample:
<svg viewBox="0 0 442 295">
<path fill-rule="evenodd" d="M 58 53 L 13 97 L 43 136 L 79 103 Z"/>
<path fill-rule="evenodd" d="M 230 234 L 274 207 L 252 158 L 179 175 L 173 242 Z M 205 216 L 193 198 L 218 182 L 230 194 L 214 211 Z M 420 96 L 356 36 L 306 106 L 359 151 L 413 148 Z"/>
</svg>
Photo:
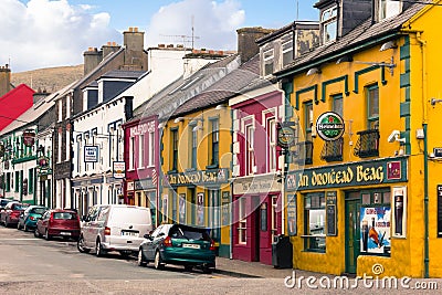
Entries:
<svg viewBox="0 0 442 295">
<path fill-rule="evenodd" d="M 360 208 L 360 252 L 389 253 L 390 207 Z"/>
</svg>

